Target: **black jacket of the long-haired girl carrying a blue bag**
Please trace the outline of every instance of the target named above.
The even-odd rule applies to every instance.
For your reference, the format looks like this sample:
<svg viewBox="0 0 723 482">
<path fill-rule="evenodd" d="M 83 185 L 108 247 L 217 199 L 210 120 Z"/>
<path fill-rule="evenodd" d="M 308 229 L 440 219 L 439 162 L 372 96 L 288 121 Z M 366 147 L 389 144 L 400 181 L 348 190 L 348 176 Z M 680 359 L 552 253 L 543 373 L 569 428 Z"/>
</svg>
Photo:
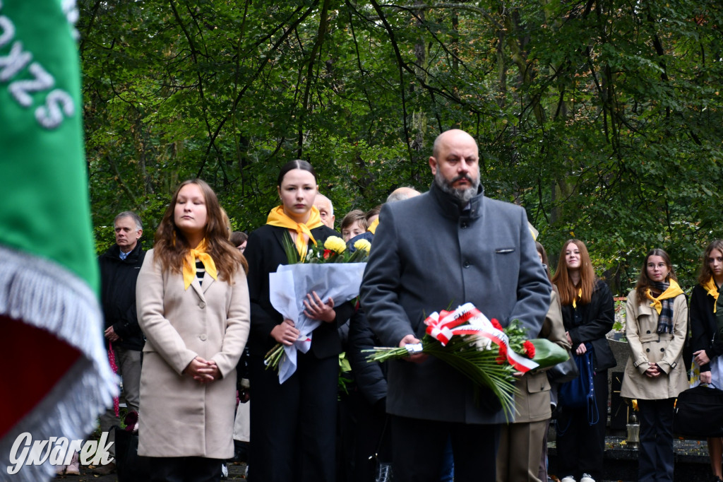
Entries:
<svg viewBox="0 0 723 482">
<path fill-rule="evenodd" d="M 573 340 L 573 351 L 581 343 L 592 344 L 593 363 L 596 371 L 607 370 L 617 365 L 605 335 L 612 330 L 615 323 L 615 303 L 610 288 L 602 280 L 598 280 L 592 292 L 590 303 L 578 303 L 581 323 L 575 323 L 573 305 L 562 306 L 562 323 L 565 331 Z"/>
</svg>

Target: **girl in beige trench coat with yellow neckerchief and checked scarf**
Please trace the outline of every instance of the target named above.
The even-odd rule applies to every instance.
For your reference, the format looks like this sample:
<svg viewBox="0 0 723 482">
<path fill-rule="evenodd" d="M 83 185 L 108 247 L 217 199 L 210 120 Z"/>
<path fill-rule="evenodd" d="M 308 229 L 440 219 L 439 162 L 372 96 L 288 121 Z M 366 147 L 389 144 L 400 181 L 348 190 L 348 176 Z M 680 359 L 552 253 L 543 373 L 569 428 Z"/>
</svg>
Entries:
<svg viewBox="0 0 723 482">
<path fill-rule="evenodd" d="M 620 389 L 621 397 L 638 399 L 638 481 L 673 480 L 673 407 L 677 395 L 688 388 L 683 363 L 687 332 L 688 303 L 670 257 L 664 250 L 651 250 L 628 295 L 625 336 L 630 358 Z"/>
</svg>

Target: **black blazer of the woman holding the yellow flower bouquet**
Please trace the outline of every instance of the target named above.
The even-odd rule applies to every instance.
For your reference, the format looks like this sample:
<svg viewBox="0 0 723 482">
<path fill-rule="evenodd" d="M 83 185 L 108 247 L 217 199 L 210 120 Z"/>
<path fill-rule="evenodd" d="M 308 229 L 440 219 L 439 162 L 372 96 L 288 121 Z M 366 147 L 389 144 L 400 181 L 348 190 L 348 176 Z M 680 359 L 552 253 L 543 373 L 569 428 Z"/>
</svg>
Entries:
<svg viewBox="0 0 723 482">
<path fill-rule="evenodd" d="M 317 242 L 324 242 L 330 236 L 341 237 L 338 232 L 326 226 L 311 230 Z M 283 250 L 284 233 L 288 229 L 265 224 L 249 235 L 244 255 L 249 263 L 249 299 L 251 301 L 251 332 L 249 333 L 249 351 L 252 356 L 263 357 L 275 344 L 271 337 L 274 326 L 283 321 L 281 313 L 271 305 L 269 295 L 269 273 L 275 273 L 278 265 L 288 264 Z M 313 243 L 310 243 L 313 244 Z M 309 350 L 317 358 L 327 358 L 341 353 L 338 326 L 354 313 L 351 302 L 334 307 L 334 323 L 322 323 L 314 330 L 312 347 Z"/>
</svg>

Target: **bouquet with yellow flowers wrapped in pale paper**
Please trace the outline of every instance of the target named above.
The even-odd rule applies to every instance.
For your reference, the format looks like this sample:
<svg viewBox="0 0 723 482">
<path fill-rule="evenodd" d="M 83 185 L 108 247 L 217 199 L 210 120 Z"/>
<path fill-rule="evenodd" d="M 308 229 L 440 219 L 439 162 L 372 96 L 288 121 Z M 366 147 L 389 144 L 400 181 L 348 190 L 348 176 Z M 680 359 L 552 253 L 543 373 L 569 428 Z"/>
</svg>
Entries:
<svg viewBox="0 0 723 482">
<path fill-rule="evenodd" d="M 315 291 L 322 300 L 332 298 L 335 306 L 359 296 L 371 247 L 367 240 L 360 240 L 354 245 L 356 251 L 347 253 L 344 240 L 331 236 L 323 246 L 310 247 L 301 259 L 291 238 L 284 241 L 288 265 L 280 265 L 275 273 L 269 274 L 271 305 L 284 318 L 294 321 L 300 334 L 290 346 L 276 344 L 265 358 L 266 368 L 278 370 L 282 384 L 296 371 L 296 351 L 309 351 L 312 331 L 322 323 L 304 315 L 307 294 Z"/>
</svg>

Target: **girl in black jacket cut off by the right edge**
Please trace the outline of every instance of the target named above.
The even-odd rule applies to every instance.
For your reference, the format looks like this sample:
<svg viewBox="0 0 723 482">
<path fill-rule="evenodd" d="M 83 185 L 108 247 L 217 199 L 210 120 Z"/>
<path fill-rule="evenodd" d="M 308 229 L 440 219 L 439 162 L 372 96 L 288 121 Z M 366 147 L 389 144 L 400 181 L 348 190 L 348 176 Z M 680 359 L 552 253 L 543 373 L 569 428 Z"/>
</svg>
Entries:
<svg viewBox="0 0 723 482">
<path fill-rule="evenodd" d="M 723 240 L 715 240 L 708 245 L 703 253 L 703 266 L 698 284 L 690 295 L 690 329 L 693 357 L 701 368 L 701 383 L 712 384 L 723 389 L 723 367 L 720 355 L 723 354 L 723 343 L 716 334 L 716 315 L 714 308 L 718 299 L 719 289 L 723 283 Z M 719 304 L 720 305 L 720 304 Z M 715 481 L 723 480 L 723 439 L 708 439 L 708 453 L 711 457 L 711 469 Z"/>
</svg>

